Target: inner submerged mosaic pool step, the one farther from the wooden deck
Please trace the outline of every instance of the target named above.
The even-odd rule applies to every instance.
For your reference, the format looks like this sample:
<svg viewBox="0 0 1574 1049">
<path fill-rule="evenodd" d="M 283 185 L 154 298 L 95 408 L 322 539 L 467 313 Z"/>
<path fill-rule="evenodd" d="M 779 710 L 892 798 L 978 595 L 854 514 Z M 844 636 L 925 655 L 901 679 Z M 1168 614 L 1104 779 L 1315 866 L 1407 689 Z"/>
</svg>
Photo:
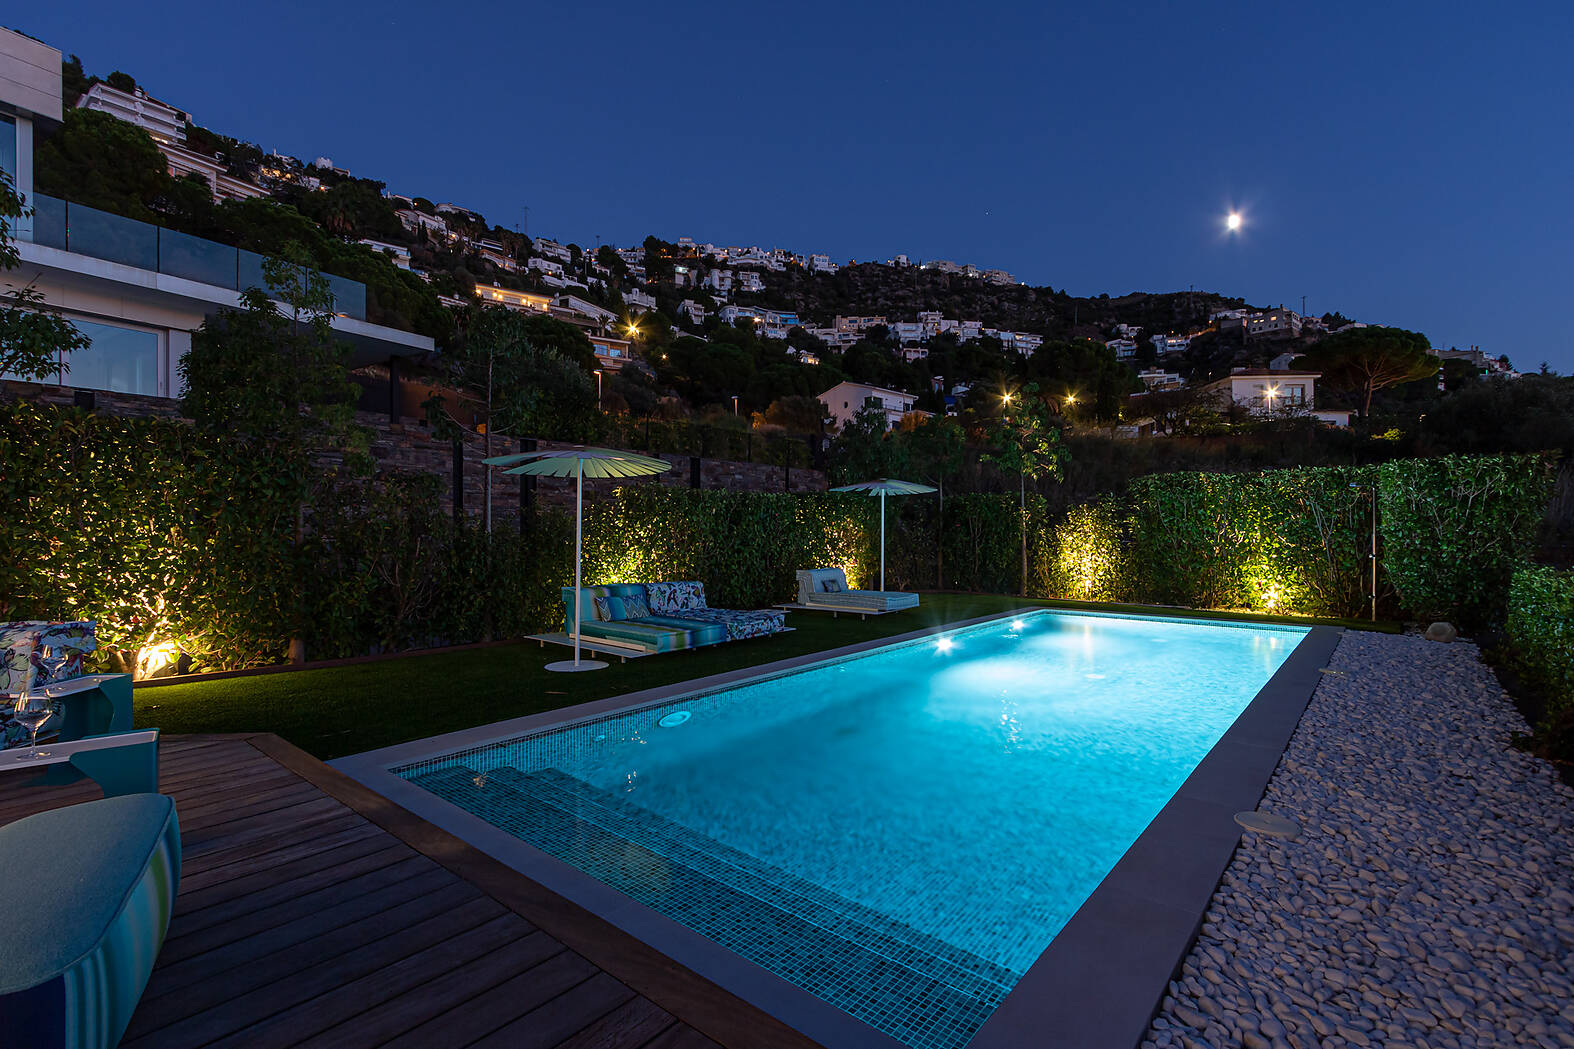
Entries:
<svg viewBox="0 0 1574 1049">
<path fill-rule="evenodd" d="M 985 958 L 652 813 L 626 794 L 604 791 L 559 769 L 530 773 L 496 769 L 491 777 L 548 805 L 573 811 L 579 819 L 606 827 L 625 841 L 645 846 L 837 936 L 858 940 L 869 950 L 900 961 L 922 959 L 930 966 L 930 975 L 957 989 L 1004 995 L 1020 978 L 1020 973 Z"/>
</svg>

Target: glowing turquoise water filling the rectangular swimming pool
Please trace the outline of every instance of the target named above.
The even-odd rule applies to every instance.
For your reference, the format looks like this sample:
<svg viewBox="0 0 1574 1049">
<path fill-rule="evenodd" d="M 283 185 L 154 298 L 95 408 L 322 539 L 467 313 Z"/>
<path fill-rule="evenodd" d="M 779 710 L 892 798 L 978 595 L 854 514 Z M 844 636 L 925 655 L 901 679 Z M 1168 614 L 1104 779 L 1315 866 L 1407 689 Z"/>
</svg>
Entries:
<svg viewBox="0 0 1574 1049">
<path fill-rule="evenodd" d="M 1031 613 L 394 772 L 952 1049 L 1303 635 Z"/>
</svg>

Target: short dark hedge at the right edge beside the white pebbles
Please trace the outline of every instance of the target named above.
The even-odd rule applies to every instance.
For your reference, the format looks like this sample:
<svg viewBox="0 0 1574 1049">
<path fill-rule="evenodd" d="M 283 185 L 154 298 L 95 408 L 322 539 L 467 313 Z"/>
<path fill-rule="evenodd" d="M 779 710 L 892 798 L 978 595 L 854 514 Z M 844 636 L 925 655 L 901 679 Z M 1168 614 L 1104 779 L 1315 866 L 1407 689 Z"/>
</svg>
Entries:
<svg viewBox="0 0 1574 1049">
<path fill-rule="evenodd" d="M 1574 572 L 1514 572 L 1505 630 L 1511 662 L 1547 701 L 1547 725 L 1574 710 Z"/>
</svg>

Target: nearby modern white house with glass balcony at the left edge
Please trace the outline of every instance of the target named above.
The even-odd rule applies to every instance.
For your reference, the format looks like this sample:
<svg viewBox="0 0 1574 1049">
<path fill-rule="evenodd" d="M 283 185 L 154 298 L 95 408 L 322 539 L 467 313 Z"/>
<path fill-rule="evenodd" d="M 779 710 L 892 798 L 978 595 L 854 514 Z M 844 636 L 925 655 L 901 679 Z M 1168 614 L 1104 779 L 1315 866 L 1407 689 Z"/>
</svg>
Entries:
<svg viewBox="0 0 1574 1049">
<path fill-rule="evenodd" d="M 6 276 L 91 340 L 65 354 L 46 383 L 79 391 L 88 406 L 94 391 L 178 398 L 192 332 L 219 310 L 238 309 L 249 288 L 266 287 L 266 260 L 36 192 L 35 126 L 61 117 L 60 52 L 0 30 L 0 170 L 31 208 L 13 221 L 17 266 Z M 430 354 L 433 340 L 370 323 L 365 285 L 324 277 L 334 339 L 346 347 L 351 367 L 387 369 L 387 403 L 397 413 L 400 362 Z"/>
</svg>

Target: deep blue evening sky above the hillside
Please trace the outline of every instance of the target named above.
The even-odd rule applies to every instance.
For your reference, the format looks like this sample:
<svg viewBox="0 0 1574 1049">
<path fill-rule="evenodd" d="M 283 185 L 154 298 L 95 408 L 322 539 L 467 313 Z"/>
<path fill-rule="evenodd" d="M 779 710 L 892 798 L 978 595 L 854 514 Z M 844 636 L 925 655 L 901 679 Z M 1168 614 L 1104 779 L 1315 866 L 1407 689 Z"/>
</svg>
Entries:
<svg viewBox="0 0 1574 1049">
<path fill-rule="evenodd" d="M 124 3 L 16 28 L 537 235 L 1217 290 L 1574 370 L 1566 3 Z M 1229 206 L 1239 238 L 1221 236 Z"/>
</svg>

